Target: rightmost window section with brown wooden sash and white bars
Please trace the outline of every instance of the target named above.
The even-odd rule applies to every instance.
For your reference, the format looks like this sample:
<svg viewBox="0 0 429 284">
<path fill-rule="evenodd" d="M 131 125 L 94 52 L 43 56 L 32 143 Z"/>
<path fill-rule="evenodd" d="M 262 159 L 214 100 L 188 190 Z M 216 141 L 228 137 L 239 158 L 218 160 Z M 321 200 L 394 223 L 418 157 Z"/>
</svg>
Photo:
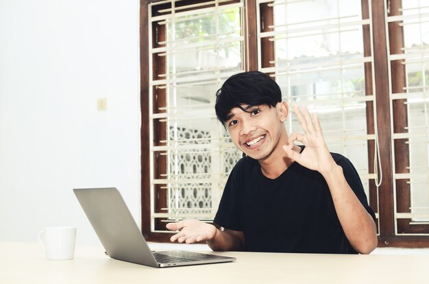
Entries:
<svg viewBox="0 0 429 284">
<path fill-rule="evenodd" d="M 395 233 L 422 236 L 429 233 L 429 1 L 388 8 Z"/>
</svg>

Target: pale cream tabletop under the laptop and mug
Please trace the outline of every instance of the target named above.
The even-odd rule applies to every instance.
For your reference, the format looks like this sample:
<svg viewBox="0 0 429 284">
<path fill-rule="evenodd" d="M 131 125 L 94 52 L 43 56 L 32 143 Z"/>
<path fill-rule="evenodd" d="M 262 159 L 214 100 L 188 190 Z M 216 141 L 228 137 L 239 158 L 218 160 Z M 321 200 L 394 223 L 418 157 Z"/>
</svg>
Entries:
<svg viewBox="0 0 429 284">
<path fill-rule="evenodd" d="M 101 246 L 77 246 L 75 259 L 49 261 L 36 243 L 0 242 L 0 283 L 429 283 L 429 255 L 216 253 L 237 261 L 150 268 L 110 259 Z"/>
</svg>

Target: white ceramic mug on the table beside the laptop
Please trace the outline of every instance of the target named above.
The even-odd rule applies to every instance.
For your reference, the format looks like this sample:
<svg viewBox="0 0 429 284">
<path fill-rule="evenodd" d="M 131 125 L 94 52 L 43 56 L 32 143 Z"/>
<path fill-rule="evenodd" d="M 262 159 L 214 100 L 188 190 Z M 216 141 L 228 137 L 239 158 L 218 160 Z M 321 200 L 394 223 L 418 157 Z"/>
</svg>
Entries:
<svg viewBox="0 0 429 284">
<path fill-rule="evenodd" d="M 76 227 L 46 227 L 39 232 L 38 239 L 47 259 L 66 260 L 75 256 Z"/>
</svg>

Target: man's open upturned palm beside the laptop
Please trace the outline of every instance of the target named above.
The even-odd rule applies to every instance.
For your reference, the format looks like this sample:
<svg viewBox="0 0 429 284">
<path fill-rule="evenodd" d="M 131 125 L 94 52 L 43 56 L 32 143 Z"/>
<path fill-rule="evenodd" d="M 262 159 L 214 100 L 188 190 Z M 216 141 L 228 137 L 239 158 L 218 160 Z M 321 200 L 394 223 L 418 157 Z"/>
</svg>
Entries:
<svg viewBox="0 0 429 284">
<path fill-rule="evenodd" d="M 199 220 L 183 220 L 177 223 L 167 224 L 167 229 L 178 230 L 177 234 L 170 238 L 170 241 L 193 244 L 198 241 L 210 241 L 215 238 L 217 228 L 212 224 L 207 224 Z"/>
</svg>

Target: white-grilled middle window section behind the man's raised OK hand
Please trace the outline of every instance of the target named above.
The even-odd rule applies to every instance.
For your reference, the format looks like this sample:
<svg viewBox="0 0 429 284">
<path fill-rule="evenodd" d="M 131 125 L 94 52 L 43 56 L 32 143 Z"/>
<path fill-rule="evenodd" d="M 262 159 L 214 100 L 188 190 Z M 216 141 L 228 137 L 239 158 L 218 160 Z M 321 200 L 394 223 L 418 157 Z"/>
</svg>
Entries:
<svg viewBox="0 0 429 284">
<path fill-rule="evenodd" d="M 374 161 L 368 143 L 376 144 L 376 129 L 368 123 L 375 116 L 367 106 L 375 104 L 376 94 L 373 87 L 365 91 L 365 64 L 373 68 L 373 58 L 364 53 L 363 29 L 371 30 L 370 16 L 363 19 L 360 0 L 257 0 L 257 5 L 258 58 L 267 47 L 263 40 L 274 50 L 272 60 L 259 61 L 260 70 L 275 78 L 290 106 L 318 114 L 330 151 L 350 158 L 369 196 L 370 180 L 380 176 L 369 172 Z M 271 23 L 263 19 L 265 9 L 273 10 Z M 289 133 L 302 132 L 294 115 L 286 126 Z"/>
</svg>

